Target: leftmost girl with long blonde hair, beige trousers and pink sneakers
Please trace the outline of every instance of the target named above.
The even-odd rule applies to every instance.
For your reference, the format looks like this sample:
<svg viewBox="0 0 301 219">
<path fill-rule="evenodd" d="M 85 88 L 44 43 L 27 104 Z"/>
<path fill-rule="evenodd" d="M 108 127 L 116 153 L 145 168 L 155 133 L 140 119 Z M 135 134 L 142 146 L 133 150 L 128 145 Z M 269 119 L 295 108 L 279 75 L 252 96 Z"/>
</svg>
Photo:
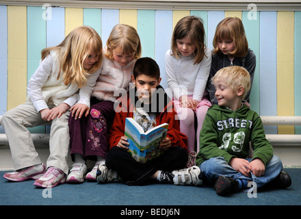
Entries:
<svg viewBox="0 0 301 219">
<path fill-rule="evenodd" d="M 34 185 L 53 187 L 66 181 L 69 155 L 70 107 L 90 109 L 90 94 L 99 77 L 102 41 L 90 27 L 77 27 L 56 47 L 42 50 L 42 61 L 29 80 L 27 102 L 6 112 L 2 124 L 10 142 L 15 172 L 5 179 L 36 179 Z M 51 125 L 47 170 L 40 161 L 27 127 Z"/>
</svg>

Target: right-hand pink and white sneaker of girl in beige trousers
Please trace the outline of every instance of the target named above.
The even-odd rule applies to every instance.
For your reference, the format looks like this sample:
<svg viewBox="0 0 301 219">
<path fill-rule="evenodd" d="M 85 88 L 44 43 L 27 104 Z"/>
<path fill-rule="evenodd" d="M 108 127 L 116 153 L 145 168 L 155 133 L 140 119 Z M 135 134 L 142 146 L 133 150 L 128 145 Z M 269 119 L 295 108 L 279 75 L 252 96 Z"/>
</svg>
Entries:
<svg viewBox="0 0 301 219">
<path fill-rule="evenodd" d="M 50 167 L 47 172 L 44 173 L 42 177 L 34 182 L 34 185 L 42 188 L 52 188 L 59 183 L 66 182 L 66 174 L 58 168 Z"/>
</svg>

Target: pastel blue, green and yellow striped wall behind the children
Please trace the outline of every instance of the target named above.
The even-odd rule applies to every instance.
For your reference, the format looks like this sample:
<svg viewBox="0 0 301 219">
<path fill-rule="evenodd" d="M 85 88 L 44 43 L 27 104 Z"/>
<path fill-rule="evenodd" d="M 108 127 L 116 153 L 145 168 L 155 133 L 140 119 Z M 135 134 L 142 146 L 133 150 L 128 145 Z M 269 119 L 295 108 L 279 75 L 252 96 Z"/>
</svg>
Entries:
<svg viewBox="0 0 301 219">
<path fill-rule="evenodd" d="M 301 116 L 301 12 L 204 10 L 127 10 L 44 8 L 0 5 L 0 115 L 26 99 L 27 81 L 40 61 L 40 51 L 53 47 L 79 25 L 96 29 L 103 44 L 118 23 L 137 29 L 142 56 L 154 58 L 166 82 L 164 56 L 172 30 L 183 16 L 200 16 L 206 44 L 212 49 L 216 25 L 237 16 L 244 23 L 249 47 L 257 55 L 251 93 L 252 110 L 262 116 Z M 42 128 L 33 130 L 41 131 Z M 267 133 L 301 133 L 300 127 L 265 127 Z M 0 128 L 3 133 L 3 129 Z"/>
</svg>

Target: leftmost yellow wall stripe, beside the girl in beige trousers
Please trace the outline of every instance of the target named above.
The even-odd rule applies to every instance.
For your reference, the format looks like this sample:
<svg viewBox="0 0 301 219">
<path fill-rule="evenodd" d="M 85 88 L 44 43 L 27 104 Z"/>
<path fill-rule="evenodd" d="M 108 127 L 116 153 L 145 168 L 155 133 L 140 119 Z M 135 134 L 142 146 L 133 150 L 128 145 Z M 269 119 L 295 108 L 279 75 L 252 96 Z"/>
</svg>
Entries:
<svg viewBox="0 0 301 219">
<path fill-rule="evenodd" d="M 8 110 L 27 96 L 27 7 L 8 6 Z"/>
</svg>

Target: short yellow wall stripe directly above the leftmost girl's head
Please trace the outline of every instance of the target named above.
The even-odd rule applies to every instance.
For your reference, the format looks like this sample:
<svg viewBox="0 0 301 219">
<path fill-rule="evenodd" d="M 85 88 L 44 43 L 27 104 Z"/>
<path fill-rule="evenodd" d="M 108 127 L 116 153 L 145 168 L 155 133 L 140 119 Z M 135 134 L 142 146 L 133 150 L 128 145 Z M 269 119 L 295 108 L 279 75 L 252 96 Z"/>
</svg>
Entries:
<svg viewBox="0 0 301 219">
<path fill-rule="evenodd" d="M 83 25 L 83 8 L 65 9 L 65 36 L 76 27 Z"/>
</svg>

